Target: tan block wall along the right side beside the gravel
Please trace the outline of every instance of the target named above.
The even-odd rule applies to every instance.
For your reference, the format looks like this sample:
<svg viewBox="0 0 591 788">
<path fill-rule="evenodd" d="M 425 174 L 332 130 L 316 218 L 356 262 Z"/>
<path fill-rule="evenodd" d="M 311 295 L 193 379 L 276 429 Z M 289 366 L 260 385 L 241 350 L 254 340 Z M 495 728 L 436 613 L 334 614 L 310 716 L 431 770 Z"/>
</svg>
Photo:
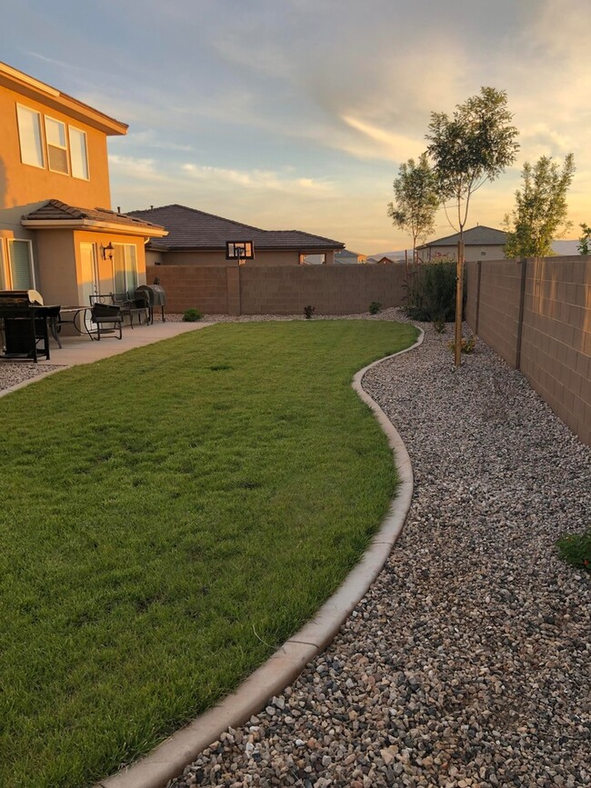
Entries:
<svg viewBox="0 0 591 788">
<path fill-rule="evenodd" d="M 521 353 L 518 315 L 524 263 L 466 265 L 466 319 L 527 380 L 580 440 L 591 445 L 591 257 L 526 261 Z M 490 270 L 493 269 L 493 270 Z"/>
</svg>

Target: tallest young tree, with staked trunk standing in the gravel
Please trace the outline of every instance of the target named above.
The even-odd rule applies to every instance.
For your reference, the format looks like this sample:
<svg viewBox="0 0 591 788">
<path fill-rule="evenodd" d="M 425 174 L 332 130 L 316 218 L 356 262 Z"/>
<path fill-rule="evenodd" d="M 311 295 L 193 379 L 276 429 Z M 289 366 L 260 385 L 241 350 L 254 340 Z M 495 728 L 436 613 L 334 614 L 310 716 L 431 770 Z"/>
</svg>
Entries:
<svg viewBox="0 0 591 788">
<path fill-rule="evenodd" d="M 452 118 L 446 113 L 431 113 L 426 139 L 436 175 L 437 191 L 446 205 L 456 209 L 459 232 L 456 287 L 456 366 L 461 364 L 462 299 L 464 291 L 464 227 L 472 195 L 486 181 L 494 181 L 513 164 L 519 145 L 511 125 L 513 115 L 506 108 L 506 93 L 482 87 L 479 95 L 456 106 Z"/>
</svg>

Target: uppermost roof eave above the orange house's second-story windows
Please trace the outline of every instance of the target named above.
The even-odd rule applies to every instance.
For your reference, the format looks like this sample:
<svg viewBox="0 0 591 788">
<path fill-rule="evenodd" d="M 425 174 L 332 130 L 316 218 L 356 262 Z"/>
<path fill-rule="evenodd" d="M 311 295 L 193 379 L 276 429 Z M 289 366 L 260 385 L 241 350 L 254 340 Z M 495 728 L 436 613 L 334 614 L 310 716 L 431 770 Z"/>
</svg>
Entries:
<svg viewBox="0 0 591 788">
<path fill-rule="evenodd" d="M 25 74 L 24 71 L 13 68 L 12 65 L 2 62 L 0 62 L 0 85 L 5 85 L 11 90 L 53 107 L 82 123 L 94 126 L 105 135 L 127 134 L 127 124 L 115 120 L 114 117 L 105 115 L 105 113 L 82 101 L 78 101 L 77 98 L 73 98 L 71 95 L 62 93 L 61 90 L 57 90 L 51 85 L 45 85 L 45 82 Z"/>
</svg>

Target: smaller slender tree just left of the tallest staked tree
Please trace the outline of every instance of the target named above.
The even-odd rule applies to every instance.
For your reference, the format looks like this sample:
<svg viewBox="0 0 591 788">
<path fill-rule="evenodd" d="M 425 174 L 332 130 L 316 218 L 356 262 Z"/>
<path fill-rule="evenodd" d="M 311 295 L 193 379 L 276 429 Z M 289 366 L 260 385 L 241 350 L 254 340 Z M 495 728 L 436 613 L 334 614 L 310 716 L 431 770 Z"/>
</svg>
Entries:
<svg viewBox="0 0 591 788">
<path fill-rule="evenodd" d="M 421 154 L 416 163 L 415 159 L 408 159 L 400 165 L 394 181 L 394 195 L 396 203 L 388 203 L 388 216 L 392 224 L 412 235 L 414 263 L 416 242 L 433 233 L 439 205 L 436 179 L 426 153 Z"/>
</svg>

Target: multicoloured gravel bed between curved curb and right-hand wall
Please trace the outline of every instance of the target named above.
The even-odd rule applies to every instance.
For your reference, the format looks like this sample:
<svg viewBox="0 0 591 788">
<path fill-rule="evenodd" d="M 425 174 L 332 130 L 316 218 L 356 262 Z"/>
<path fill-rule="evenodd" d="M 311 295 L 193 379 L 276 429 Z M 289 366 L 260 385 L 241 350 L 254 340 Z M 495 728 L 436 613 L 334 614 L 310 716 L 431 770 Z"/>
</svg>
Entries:
<svg viewBox="0 0 591 788">
<path fill-rule="evenodd" d="M 591 450 L 484 344 L 454 372 L 425 328 L 364 380 L 416 477 L 384 570 L 170 788 L 591 784 L 591 584 L 554 548 L 591 522 Z"/>
</svg>

